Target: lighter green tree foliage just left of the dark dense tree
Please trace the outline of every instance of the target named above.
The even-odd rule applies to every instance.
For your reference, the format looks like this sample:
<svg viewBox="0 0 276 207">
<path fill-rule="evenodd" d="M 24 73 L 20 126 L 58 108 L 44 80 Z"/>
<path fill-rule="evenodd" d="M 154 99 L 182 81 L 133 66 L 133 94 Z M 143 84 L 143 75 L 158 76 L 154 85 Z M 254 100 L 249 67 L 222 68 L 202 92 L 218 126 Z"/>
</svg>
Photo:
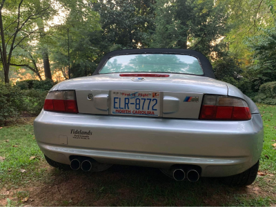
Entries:
<svg viewBox="0 0 276 207">
<path fill-rule="evenodd" d="M 72 77 L 91 75 L 96 68 L 94 61 L 99 50 L 93 46 L 90 37 L 101 27 L 99 14 L 92 10 L 92 3 L 93 1 L 64 1 L 69 12 L 66 21 L 49 32 L 50 59 L 54 62 L 52 67 L 61 70 L 66 79 L 69 77 L 69 64 Z M 79 7 L 75 7 L 76 4 Z"/>
</svg>

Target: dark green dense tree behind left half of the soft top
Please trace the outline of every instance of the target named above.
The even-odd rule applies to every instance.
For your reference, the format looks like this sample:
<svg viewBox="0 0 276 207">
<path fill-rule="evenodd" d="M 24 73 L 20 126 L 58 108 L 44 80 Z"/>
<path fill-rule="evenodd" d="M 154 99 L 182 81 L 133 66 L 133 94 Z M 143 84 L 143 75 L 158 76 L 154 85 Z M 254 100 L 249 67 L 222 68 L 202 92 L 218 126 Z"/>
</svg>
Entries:
<svg viewBox="0 0 276 207">
<path fill-rule="evenodd" d="M 103 39 L 117 48 L 146 48 L 153 28 L 152 0 L 99 0 Z M 116 48 L 116 47 L 115 47 Z"/>
</svg>

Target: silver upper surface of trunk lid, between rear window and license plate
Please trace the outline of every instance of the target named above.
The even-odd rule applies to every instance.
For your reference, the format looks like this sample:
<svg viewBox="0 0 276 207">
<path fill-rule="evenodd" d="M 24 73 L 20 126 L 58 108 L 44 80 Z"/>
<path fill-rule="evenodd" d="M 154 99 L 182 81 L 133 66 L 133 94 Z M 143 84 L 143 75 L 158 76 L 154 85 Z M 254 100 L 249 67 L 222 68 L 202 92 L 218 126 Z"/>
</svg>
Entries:
<svg viewBox="0 0 276 207">
<path fill-rule="evenodd" d="M 149 90 L 168 92 L 193 92 L 227 95 L 226 83 L 208 77 L 169 74 L 170 77 L 146 77 L 144 81 L 132 81 L 132 77 L 119 74 L 80 77 L 59 83 L 55 90 Z"/>
</svg>

